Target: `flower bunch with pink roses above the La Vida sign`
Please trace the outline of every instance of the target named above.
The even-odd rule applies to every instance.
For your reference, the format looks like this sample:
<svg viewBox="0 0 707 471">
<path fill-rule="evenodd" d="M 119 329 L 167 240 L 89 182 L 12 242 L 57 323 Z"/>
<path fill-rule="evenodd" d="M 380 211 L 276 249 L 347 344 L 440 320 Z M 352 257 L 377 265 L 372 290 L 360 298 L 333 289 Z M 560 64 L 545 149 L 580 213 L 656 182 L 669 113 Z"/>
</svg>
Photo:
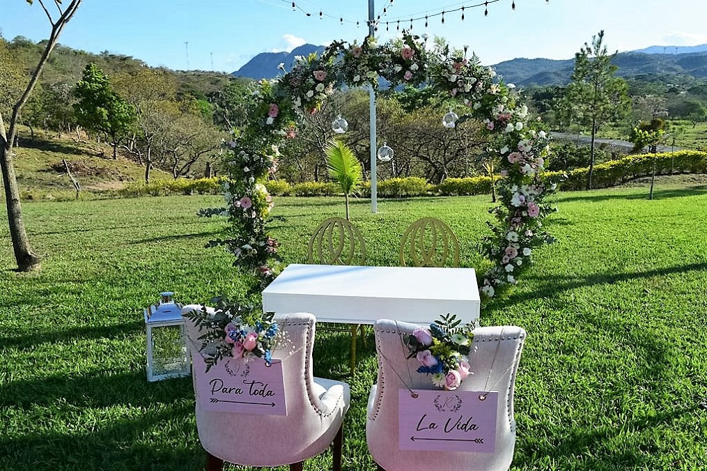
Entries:
<svg viewBox="0 0 707 471">
<path fill-rule="evenodd" d="M 415 357 L 421 366 L 418 373 L 432 375 L 432 383 L 438 388 L 455 390 L 469 371 L 469 352 L 472 348 L 473 325 L 461 325 L 454 314 L 441 316 L 429 329 L 415 329 L 407 336 L 410 351 L 408 359 Z"/>
</svg>

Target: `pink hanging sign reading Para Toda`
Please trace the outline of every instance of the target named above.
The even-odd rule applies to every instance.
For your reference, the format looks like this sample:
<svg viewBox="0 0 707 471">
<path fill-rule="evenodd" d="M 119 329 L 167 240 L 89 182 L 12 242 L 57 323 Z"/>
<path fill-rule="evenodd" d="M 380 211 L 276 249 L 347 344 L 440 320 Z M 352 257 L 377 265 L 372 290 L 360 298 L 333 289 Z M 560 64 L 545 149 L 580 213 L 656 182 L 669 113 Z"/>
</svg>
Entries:
<svg viewBox="0 0 707 471">
<path fill-rule="evenodd" d="M 228 358 L 204 373 L 201 356 L 194 356 L 197 403 L 201 409 L 238 414 L 287 415 L 282 362 L 265 366 L 262 359 L 248 362 Z"/>
</svg>

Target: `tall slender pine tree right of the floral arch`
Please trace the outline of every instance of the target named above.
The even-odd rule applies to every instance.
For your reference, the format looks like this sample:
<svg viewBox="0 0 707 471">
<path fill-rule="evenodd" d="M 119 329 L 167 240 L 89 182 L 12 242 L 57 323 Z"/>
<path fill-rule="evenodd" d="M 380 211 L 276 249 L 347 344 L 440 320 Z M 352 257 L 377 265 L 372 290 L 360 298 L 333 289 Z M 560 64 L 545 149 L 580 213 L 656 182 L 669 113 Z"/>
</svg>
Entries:
<svg viewBox="0 0 707 471">
<path fill-rule="evenodd" d="M 566 88 L 564 105 L 576 120 L 590 127 L 590 161 L 587 190 L 592 188 L 594 149 L 597 131 L 610 121 L 620 120 L 631 109 L 626 81 L 614 76 L 618 67 L 612 64 L 616 56 L 607 53 L 603 45 L 604 31 L 592 36 L 592 44 L 584 43 L 575 54 L 572 82 Z"/>
</svg>

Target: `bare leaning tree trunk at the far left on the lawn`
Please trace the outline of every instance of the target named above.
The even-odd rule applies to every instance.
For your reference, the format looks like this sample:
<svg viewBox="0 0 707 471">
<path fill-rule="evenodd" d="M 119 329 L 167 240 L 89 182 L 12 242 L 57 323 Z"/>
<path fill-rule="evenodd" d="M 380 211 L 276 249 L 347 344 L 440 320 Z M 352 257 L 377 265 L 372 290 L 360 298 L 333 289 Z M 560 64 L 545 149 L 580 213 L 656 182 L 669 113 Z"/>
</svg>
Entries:
<svg viewBox="0 0 707 471">
<path fill-rule="evenodd" d="M 26 1 L 28 4 L 32 4 L 33 2 L 33 0 Z M 56 6 L 59 11 L 59 17 L 54 18 L 52 13 L 49 13 L 49 10 L 47 10 L 44 0 L 37 0 L 37 3 L 42 6 L 42 9 L 47 14 L 47 18 L 49 18 L 49 23 L 52 25 L 52 32 L 49 34 L 49 40 L 47 40 L 45 50 L 30 76 L 30 81 L 24 93 L 12 107 L 12 115 L 8 122 L 7 129 L 3 121 L 2 112 L 0 112 L 0 147 L 2 148 L 0 151 L 0 167 L 2 168 L 2 179 L 5 187 L 5 202 L 7 206 L 7 219 L 10 226 L 10 236 L 12 238 L 12 248 L 15 253 L 18 271 L 20 272 L 27 272 L 39 268 L 40 257 L 37 257 L 37 255 L 32 252 L 30 241 L 25 231 L 22 206 L 20 203 L 20 189 L 17 185 L 15 164 L 12 160 L 17 125 L 22 107 L 27 103 L 27 100 L 29 100 L 30 94 L 35 88 L 40 74 L 42 74 L 42 69 L 44 69 L 49 60 L 49 54 L 52 54 L 52 50 L 59 40 L 59 35 L 62 33 L 66 23 L 68 23 L 74 16 L 74 13 L 76 13 L 76 9 L 81 4 L 81 1 L 82 0 L 71 0 L 69 5 L 65 8 L 63 8 L 62 4 L 58 1 L 54 1 L 54 6 Z"/>
</svg>

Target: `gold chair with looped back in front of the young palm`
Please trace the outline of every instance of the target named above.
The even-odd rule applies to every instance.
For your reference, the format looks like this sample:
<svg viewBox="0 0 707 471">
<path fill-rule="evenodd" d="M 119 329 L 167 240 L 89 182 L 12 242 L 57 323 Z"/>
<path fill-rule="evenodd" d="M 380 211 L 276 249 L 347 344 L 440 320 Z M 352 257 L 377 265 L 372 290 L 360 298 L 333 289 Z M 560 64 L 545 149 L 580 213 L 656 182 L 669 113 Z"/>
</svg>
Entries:
<svg viewBox="0 0 707 471">
<path fill-rule="evenodd" d="M 312 234 L 308 244 L 308 257 L 309 262 L 315 264 L 364 265 L 366 264 L 366 242 L 358 228 L 350 221 L 339 217 L 329 218 Z M 356 337 L 359 329 L 365 346 L 366 332 L 363 330 L 363 325 L 351 325 L 347 329 L 320 326 L 320 330 L 351 332 L 352 376 L 356 371 Z"/>
</svg>

